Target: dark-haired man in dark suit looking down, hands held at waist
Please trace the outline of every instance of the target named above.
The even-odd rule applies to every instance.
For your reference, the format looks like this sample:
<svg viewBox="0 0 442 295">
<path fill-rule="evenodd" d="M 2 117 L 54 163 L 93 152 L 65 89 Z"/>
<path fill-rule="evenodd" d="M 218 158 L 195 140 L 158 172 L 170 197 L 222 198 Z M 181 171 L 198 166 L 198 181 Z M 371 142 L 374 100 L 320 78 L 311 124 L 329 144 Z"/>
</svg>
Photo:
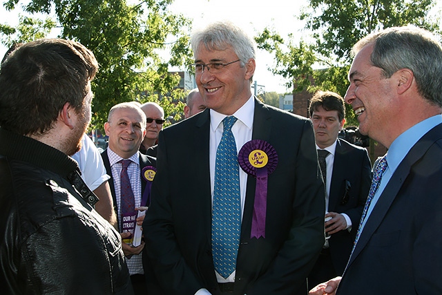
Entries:
<svg viewBox="0 0 442 295">
<path fill-rule="evenodd" d="M 345 124 L 343 97 L 318 91 L 311 97 L 309 114 L 318 154 L 327 151 L 323 173 L 326 241 L 308 277 L 309 287 L 314 287 L 344 272 L 372 182 L 372 168 L 366 149 L 338 138 Z"/>
</svg>

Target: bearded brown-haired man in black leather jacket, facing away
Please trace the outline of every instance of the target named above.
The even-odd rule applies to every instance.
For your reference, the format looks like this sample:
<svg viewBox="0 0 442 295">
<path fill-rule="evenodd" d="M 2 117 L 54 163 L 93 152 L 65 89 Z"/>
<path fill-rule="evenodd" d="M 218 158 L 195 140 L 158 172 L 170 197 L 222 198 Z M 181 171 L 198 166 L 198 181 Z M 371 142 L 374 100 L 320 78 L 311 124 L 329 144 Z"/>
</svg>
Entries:
<svg viewBox="0 0 442 295">
<path fill-rule="evenodd" d="M 93 209 L 73 155 L 97 61 L 41 39 L 0 69 L 0 293 L 133 294 L 120 236 Z"/>
</svg>

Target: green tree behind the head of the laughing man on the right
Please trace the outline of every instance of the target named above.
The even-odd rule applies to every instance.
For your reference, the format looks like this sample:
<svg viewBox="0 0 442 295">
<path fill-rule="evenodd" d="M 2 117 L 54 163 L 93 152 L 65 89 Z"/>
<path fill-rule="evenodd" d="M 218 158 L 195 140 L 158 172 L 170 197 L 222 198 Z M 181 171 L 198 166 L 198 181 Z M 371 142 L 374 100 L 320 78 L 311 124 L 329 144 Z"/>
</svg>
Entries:
<svg viewBox="0 0 442 295">
<path fill-rule="evenodd" d="M 344 96 L 352 46 L 392 26 L 414 24 L 439 32 L 438 19 L 429 17 L 433 6 L 434 0 L 309 0 L 299 17 L 305 21 L 301 38 L 292 32 L 286 41 L 265 28 L 255 39 L 258 48 L 275 55 L 276 66 L 270 70 L 287 79 L 294 93 L 321 89 Z M 347 124 L 358 125 L 350 108 Z"/>
</svg>

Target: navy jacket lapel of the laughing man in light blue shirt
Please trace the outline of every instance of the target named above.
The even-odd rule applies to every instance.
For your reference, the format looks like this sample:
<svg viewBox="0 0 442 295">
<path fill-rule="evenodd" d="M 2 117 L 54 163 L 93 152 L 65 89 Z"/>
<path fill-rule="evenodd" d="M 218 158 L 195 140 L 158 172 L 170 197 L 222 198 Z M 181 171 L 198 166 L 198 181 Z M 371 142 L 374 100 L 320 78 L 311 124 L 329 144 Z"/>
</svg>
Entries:
<svg viewBox="0 0 442 295">
<path fill-rule="evenodd" d="M 361 233 L 361 237 L 359 238 L 358 244 L 354 249 L 354 253 L 350 257 L 347 267 L 349 267 L 349 265 L 351 265 L 352 262 L 356 259 L 356 257 L 361 253 L 361 251 L 367 245 L 369 239 L 374 234 L 374 231 L 376 231 L 379 225 L 381 225 L 381 222 L 385 217 L 385 214 L 387 213 L 388 209 L 390 209 L 392 202 L 396 198 L 398 191 L 403 186 L 403 183 L 405 182 L 405 179 L 410 173 L 410 170 L 414 165 L 414 163 L 416 163 L 420 158 L 422 158 L 423 155 L 430 148 L 430 146 L 434 144 L 436 140 L 441 139 L 441 137 L 442 137 L 442 124 L 439 124 L 438 126 L 434 127 L 432 130 L 427 132 L 421 138 L 421 140 L 416 142 L 416 144 L 414 144 L 414 146 L 412 147 L 412 149 L 410 149 L 407 155 L 405 155 L 405 158 L 402 160 L 401 164 L 399 164 L 396 171 L 394 171 L 392 178 L 390 178 L 390 181 L 388 182 L 387 186 L 382 192 L 380 198 L 378 199 L 378 202 L 376 202 L 376 205 L 374 206 L 372 213 L 370 214 L 367 222 L 365 223 L 365 227 Z"/>
</svg>

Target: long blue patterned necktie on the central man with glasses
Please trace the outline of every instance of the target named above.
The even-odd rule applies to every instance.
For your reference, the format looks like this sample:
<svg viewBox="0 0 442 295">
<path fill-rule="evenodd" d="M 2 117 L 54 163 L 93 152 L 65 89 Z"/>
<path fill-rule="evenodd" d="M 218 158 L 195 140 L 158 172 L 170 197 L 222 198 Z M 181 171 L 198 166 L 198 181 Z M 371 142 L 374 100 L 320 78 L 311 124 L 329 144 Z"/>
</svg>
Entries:
<svg viewBox="0 0 442 295">
<path fill-rule="evenodd" d="M 231 128 L 236 117 L 225 117 L 220 144 L 216 150 L 213 189 L 212 253 L 215 270 L 223 278 L 236 268 L 240 243 L 240 174 L 235 137 Z"/>
</svg>

